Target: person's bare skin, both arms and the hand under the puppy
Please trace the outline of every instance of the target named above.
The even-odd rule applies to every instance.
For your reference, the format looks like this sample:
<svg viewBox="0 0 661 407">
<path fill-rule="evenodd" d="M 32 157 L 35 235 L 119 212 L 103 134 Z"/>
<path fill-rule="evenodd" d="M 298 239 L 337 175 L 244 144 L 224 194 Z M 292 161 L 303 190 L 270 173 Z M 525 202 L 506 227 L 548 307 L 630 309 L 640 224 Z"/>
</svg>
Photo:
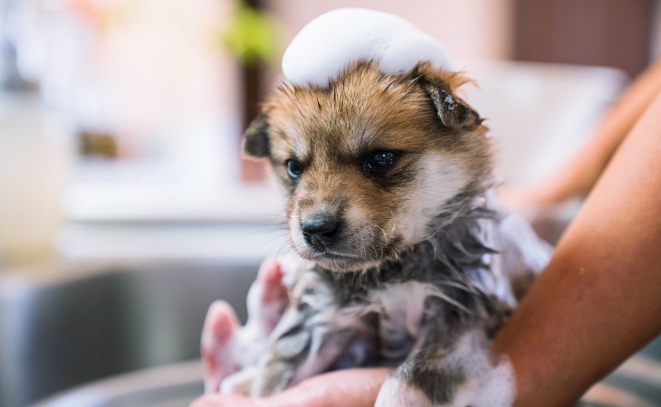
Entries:
<svg viewBox="0 0 661 407">
<path fill-rule="evenodd" d="M 515 406 L 570 405 L 661 332 L 659 88 L 661 63 L 551 179 L 550 193 L 531 201 L 553 204 L 589 192 L 550 264 L 493 340 L 493 352 L 513 364 Z M 351 369 L 260 401 L 208 395 L 193 406 L 371 406 L 387 376 L 384 369 Z"/>
</svg>

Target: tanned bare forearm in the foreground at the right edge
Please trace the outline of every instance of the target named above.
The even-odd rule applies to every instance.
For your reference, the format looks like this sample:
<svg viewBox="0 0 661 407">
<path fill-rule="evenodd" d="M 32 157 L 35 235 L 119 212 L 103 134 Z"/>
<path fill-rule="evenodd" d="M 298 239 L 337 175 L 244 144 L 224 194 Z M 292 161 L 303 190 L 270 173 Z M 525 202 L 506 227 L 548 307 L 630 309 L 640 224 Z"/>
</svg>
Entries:
<svg viewBox="0 0 661 407">
<path fill-rule="evenodd" d="M 661 330 L 660 123 L 656 98 L 496 336 L 517 405 L 570 404 Z"/>
</svg>

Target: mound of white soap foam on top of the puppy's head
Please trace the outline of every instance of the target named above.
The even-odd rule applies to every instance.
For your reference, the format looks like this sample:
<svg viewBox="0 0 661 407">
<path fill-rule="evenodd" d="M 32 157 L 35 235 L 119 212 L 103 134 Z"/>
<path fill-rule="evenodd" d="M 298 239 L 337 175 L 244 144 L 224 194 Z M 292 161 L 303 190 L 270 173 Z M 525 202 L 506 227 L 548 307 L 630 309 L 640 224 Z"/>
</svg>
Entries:
<svg viewBox="0 0 661 407">
<path fill-rule="evenodd" d="M 292 84 L 325 88 L 350 63 L 375 61 L 386 74 L 418 62 L 451 69 L 443 46 L 396 15 L 362 8 L 321 14 L 296 34 L 283 54 L 283 73 Z"/>
</svg>

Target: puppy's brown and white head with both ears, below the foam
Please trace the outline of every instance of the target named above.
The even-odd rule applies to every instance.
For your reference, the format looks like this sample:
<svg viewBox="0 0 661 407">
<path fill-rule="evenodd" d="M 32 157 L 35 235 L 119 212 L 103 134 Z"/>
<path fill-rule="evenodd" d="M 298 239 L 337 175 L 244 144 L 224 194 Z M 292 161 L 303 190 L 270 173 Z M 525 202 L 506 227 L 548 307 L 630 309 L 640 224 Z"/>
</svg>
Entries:
<svg viewBox="0 0 661 407">
<path fill-rule="evenodd" d="M 244 139 L 288 192 L 294 249 L 335 271 L 393 259 L 490 170 L 481 120 L 455 73 L 384 75 L 360 63 L 328 89 L 283 86 Z"/>
</svg>

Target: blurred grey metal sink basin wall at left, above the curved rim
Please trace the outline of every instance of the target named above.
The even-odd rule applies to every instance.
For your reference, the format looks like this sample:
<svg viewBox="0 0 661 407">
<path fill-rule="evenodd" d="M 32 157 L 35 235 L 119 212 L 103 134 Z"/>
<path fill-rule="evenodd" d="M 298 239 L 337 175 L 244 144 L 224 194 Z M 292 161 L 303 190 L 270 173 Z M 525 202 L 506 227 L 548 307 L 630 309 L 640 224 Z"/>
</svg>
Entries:
<svg viewBox="0 0 661 407">
<path fill-rule="evenodd" d="M 0 406 L 199 358 L 209 304 L 223 298 L 244 318 L 257 268 L 169 261 L 0 278 Z"/>
</svg>

